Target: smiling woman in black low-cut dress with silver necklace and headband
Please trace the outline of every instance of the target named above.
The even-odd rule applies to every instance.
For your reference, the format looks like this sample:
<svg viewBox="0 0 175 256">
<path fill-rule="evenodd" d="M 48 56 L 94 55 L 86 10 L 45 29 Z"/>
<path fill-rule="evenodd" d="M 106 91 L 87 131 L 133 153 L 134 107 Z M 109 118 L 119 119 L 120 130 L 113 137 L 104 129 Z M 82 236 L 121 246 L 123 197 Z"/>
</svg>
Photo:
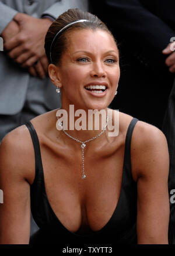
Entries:
<svg viewBox="0 0 175 256">
<path fill-rule="evenodd" d="M 163 133 L 119 112 L 120 132 L 109 135 L 118 111 L 108 105 L 120 78 L 113 35 L 95 15 L 69 9 L 48 29 L 45 49 L 69 128 L 59 119 L 56 128 L 53 110 L 3 139 L 1 243 L 29 243 L 31 205 L 40 230 L 30 243 L 167 244 L 169 154 Z M 71 129 L 78 120 L 71 105 L 86 117 L 103 110 L 99 129 L 96 115 L 86 120 L 86 129 Z"/>
</svg>

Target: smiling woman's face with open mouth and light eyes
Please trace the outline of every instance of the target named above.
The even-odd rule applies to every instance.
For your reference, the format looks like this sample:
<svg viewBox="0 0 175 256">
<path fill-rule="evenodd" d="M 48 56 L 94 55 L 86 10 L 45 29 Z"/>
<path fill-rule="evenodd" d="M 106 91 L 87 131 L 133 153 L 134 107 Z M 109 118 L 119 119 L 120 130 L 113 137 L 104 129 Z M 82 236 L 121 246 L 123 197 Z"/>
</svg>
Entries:
<svg viewBox="0 0 175 256">
<path fill-rule="evenodd" d="M 101 110 L 114 98 L 120 78 L 118 49 L 103 30 L 74 30 L 61 57 L 58 77 L 62 108 Z"/>
</svg>

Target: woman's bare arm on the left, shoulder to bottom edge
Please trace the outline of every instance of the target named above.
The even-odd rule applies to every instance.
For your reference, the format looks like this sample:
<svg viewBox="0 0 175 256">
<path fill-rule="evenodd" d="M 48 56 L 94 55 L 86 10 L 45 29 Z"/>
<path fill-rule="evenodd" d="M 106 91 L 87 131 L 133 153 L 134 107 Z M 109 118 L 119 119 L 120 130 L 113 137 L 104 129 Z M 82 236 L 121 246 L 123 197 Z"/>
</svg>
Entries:
<svg viewBox="0 0 175 256">
<path fill-rule="evenodd" d="M 0 244 L 29 244 L 30 185 L 25 178 L 29 157 L 24 141 L 15 129 L 0 146 Z"/>
</svg>

